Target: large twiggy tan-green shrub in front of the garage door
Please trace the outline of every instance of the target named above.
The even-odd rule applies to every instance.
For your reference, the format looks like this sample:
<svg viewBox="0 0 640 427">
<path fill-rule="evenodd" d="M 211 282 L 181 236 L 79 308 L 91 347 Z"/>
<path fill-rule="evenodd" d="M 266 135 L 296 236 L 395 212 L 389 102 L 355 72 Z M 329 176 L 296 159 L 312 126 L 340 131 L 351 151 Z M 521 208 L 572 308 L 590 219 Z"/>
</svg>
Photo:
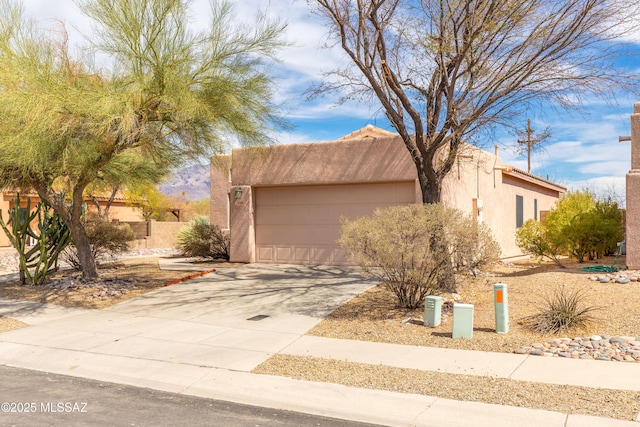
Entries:
<svg viewBox="0 0 640 427">
<path fill-rule="evenodd" d="M 366 276 L 394 292 L 400 306 L 416 308 L 426 295 L 455 290 L 455 282 L 447 280 L 454 268 L 497 258 L 498 246 L 490 239 L 488 229 L 474 227 L 459 211 L 432 204 L 343 218 L 338 243 Z"/>
</svg>

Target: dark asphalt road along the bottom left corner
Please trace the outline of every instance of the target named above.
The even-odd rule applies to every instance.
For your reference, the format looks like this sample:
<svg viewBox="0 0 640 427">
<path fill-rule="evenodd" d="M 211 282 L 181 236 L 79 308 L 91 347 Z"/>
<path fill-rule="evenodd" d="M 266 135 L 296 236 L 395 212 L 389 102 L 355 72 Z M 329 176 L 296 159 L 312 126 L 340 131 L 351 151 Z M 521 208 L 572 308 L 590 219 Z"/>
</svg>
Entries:
<svg viewBox="0 0 640 427">
<path fill-rule="evenodd" d="M 0 365 L 0 426 L 372 425 Z"/>
</svg>

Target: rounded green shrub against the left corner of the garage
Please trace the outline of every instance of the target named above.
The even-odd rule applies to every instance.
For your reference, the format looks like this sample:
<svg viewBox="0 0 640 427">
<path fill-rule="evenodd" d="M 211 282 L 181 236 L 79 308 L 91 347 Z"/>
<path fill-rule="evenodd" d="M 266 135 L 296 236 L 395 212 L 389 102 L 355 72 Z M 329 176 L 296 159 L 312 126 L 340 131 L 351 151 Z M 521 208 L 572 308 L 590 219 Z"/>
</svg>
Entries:
<svg viewBox="0 0 640 427">
<path fill-rule="evenodd" d="M 178 248 L 184 256 L 229 259 L 229 235 L 206 217 L 195 217 L 178 233 Z"/>
</svg>

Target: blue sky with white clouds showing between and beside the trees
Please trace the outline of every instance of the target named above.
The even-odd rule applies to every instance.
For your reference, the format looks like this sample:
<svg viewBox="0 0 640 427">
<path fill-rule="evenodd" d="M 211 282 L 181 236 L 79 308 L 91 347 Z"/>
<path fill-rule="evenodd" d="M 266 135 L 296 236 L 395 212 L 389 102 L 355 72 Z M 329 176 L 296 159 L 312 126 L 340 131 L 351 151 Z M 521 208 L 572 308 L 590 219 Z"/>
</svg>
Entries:
<svg viewBox="0 0 640 427">
<path fill-rule="evenodd" d="M 307 101 L 304 92 L 320 79 L 323 72 L 345 63 L 338 48 L 325 49 L 327 31 L 317 16 L 309 11 L 306 0 L 233 0 L 239 19 L 249 22 L 257 9 L 287 22 L 286 38 L 292 44 L 280 53 L 278 75 L 279 101 L 294 128 L 279 135 L 281 143 L 329 141 L 367 124 L 393 130 L 377 108 L 368 105 L 335 105 L 335 99 Z M 24 0 L 27 13 L 52 25 L 55 19 L 67 24 L 70 40 L 81 40 L 79 33 L 90 33 L 89 23 L 79 14 L 73 0 Z M 193 0 L 193 26 L 202 28 L 207 22 L 208 0 Z M 633 40 L 632 40 L 633 41 Z M 640 37 L 637 42 L 640 42 Z M 640 45 L 636 45 L 639 47 Z M 640 55 L 637 68 L 640 72 Z M 635 65 L 635 64 L 634 64 Z M 625 174 L 630 169 L 629 142 L 618 142 L 618 136 L 629 135 L 629 115 L 635 101 L 622 94 L 615 105 L 602 100 L 585 101 L 583 108 L 571 114 L 561 110 L 531 113 L 532 127 L 549 126 L 552 137 L 543 151 L 532 156 L 532 173 L 549 178 L 570 189 L 588 187 L 599 194 L 614 192 L 624 198 Z M 522 128 L 526 123 L 522 123 Z M 518 156 L 510 146 L 516 137 L 496 132 L 483 141 L 493 151 L 500 146 L 505 163 L 526 170 L 526 157 Z"/>
</svg>

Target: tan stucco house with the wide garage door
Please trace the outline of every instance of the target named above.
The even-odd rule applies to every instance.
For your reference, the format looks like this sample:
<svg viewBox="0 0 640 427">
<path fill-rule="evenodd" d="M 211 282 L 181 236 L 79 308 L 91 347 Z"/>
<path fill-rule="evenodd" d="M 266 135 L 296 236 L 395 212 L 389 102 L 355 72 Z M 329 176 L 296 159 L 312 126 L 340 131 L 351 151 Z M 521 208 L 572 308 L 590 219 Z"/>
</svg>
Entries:
<svg viewBox="0 0 640 427">
<path fill-rule="evenodd" d="M 370 125 L 333 142 L 234 149 L 211 165 L 211 223 L 230 230 L 234 262 L 344 264 L 341 217 L 422 200 L 400 137 Z M 486 223 L 510 258 L 522 255 L 516 229 L 565 192 L 466 145 L 442 200 Z"/>
</svg>

